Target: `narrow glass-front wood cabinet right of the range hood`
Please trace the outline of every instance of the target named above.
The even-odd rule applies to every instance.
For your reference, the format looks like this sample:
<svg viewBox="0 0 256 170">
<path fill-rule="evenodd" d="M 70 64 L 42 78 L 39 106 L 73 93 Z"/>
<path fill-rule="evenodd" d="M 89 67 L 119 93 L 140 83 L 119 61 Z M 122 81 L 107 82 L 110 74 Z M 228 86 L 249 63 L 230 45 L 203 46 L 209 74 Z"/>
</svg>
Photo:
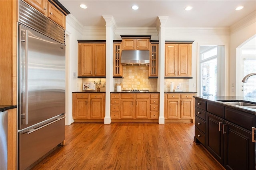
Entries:
<svg viewBox="0 0 256 170">
<path fill-rule="evenodd" d="M 149 77 L 158 76 L 158 43 L 150 44 Z"/>
</svg>

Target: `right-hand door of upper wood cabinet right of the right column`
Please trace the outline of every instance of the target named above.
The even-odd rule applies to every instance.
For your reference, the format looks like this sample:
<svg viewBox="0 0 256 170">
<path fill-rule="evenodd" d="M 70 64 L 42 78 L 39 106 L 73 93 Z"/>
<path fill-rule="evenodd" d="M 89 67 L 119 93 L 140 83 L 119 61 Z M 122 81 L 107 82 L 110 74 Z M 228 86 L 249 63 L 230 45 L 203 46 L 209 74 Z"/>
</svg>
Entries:
<svg viewBox="0 0 256 170">
<path fill-rule="evenodd" d="M 178 76 L 191 76 L 191 44 L 178 45 Z"/>
</svg>

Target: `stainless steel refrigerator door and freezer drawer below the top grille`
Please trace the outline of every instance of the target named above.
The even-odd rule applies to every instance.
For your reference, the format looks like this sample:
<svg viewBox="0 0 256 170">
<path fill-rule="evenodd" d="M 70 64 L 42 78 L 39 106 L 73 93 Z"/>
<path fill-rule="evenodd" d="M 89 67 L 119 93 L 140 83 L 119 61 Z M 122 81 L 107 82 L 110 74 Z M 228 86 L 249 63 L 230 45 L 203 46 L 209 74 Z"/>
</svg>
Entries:
<svg viewBox="0 0 256 170">
<path fill-rule="evenodd" d="M 65 46 L 18 26 L 18 167 L 23 170 L 64 141 Z"/>
</svg>

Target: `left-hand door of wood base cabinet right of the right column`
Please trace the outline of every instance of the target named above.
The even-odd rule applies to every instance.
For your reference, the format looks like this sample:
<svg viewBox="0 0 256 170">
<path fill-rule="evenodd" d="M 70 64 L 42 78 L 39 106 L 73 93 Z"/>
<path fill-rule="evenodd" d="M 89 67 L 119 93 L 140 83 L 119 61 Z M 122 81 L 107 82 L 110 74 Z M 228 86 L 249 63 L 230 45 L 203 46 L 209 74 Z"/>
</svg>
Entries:
<svg viewBox="0 0 256 170">
<path fill-rule="evenodd" d="M 179 100 L 167 100 L 166 119 L 178 119 L 180 113 Z"/>
</svg>

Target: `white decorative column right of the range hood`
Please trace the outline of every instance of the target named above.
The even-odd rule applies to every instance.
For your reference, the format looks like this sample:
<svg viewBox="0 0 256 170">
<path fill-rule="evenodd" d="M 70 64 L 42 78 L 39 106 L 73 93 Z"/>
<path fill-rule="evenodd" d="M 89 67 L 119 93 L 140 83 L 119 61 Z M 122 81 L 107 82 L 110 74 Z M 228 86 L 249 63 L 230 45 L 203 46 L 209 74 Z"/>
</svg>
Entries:
<svg viewBox="0 0 256 170">
<path fill-rule="evenodd" d="M 159 40 L 158 54 L 158 83 L 157 88 L 160 92 L 159 102 L 159 124 L 164 124 L 164 55 L 165 55 L 165 24 L 168 16 L 158 16 L 157 30 Z"/>
</svg>

